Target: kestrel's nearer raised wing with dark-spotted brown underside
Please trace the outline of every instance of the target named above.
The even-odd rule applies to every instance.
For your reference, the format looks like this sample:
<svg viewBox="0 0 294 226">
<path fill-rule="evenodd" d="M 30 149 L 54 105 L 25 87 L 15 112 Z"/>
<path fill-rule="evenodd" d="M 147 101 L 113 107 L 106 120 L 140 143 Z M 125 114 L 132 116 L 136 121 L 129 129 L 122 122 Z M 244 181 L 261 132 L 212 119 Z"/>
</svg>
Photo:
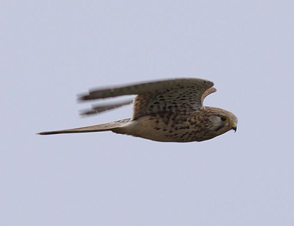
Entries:
<svg viewBox="0 0 294 226">
<path fill-rule="evenodd" d="M 204 98 L 215 92 L 213 82 L 201 78 L 175 78 L 113 87 L 102 90 L 90 90 L 79 100 L 96 100 L 123 95 L 137 95 L 133 101 L 133 117 L 158 112 L 187 114 L 200 110 Z"/>
</svg>

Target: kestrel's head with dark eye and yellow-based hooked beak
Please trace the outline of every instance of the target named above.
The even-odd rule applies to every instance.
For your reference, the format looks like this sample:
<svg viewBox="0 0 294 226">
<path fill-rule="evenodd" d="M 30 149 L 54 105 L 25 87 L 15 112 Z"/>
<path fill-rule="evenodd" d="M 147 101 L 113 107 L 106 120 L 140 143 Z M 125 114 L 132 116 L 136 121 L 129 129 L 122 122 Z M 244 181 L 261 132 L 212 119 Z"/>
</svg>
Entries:
<svg viewBox="0 0 294 226">
<path fill-rule="evenodd" d="M 209 133 L 212 138 L 229 130 L 237 131 L 237 117 L 226 110 L 217 107 L 204 107 L 203 109 L 210 121 Z"/>
</svg>

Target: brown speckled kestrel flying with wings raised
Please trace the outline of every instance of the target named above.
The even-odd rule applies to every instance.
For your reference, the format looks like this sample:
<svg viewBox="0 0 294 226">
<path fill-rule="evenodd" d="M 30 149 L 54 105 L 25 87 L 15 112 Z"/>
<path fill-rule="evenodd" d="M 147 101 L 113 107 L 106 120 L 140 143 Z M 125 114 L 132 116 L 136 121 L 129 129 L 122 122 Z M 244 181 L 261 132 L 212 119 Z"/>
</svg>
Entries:
<svg viewBox="0 0 294 226">
<path fill-rule="evenodd" d="M 124 86 L 92 89 L 78 95 L 78 101 L 136 95 L 109 105 L 94 105 L 81 112 L 92 115 L 133 104 L 132 116 L 110 123 L 72 129 L 45 131 L 39 135 L 112 131 L 159 142 L 200 142 L 229 130 L 237 131 L 237 117 L 218 107 L 203 106 L 204 99 L 216 92 L 212 81 L 202 78 L 172 78 Z"/>
</svg>

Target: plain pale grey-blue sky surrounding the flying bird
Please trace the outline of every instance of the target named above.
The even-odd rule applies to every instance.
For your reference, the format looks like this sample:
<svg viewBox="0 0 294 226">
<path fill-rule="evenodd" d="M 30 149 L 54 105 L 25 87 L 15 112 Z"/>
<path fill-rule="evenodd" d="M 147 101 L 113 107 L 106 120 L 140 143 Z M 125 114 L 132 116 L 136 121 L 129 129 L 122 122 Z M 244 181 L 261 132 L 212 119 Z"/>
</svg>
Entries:
<svg viewBox="0 0 294 226">
<path fill-rule="evenodd" d="M 4 1 L 0 225 L 293 226 L 293 1 Z M 110 132 L 36 136 L 87 119 L 88 88 L 177 76 L 237 133 L 159 143 Z"/>
</svg>

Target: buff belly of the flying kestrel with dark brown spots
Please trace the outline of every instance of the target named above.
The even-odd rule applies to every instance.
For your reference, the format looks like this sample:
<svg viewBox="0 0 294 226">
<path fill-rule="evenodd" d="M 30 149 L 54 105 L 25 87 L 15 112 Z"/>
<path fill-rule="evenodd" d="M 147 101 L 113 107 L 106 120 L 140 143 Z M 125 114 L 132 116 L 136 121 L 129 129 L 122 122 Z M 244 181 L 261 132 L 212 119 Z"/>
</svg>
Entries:
<svg viewBox="0 0 294 226">
<path fill-rule="evenodd" d="M 187 121 L 177 123 L 161 117 L 144 116 L 123 126 L 123 133 L 162 142 L 196 141 L 195 126 Z"/>
</svg>

